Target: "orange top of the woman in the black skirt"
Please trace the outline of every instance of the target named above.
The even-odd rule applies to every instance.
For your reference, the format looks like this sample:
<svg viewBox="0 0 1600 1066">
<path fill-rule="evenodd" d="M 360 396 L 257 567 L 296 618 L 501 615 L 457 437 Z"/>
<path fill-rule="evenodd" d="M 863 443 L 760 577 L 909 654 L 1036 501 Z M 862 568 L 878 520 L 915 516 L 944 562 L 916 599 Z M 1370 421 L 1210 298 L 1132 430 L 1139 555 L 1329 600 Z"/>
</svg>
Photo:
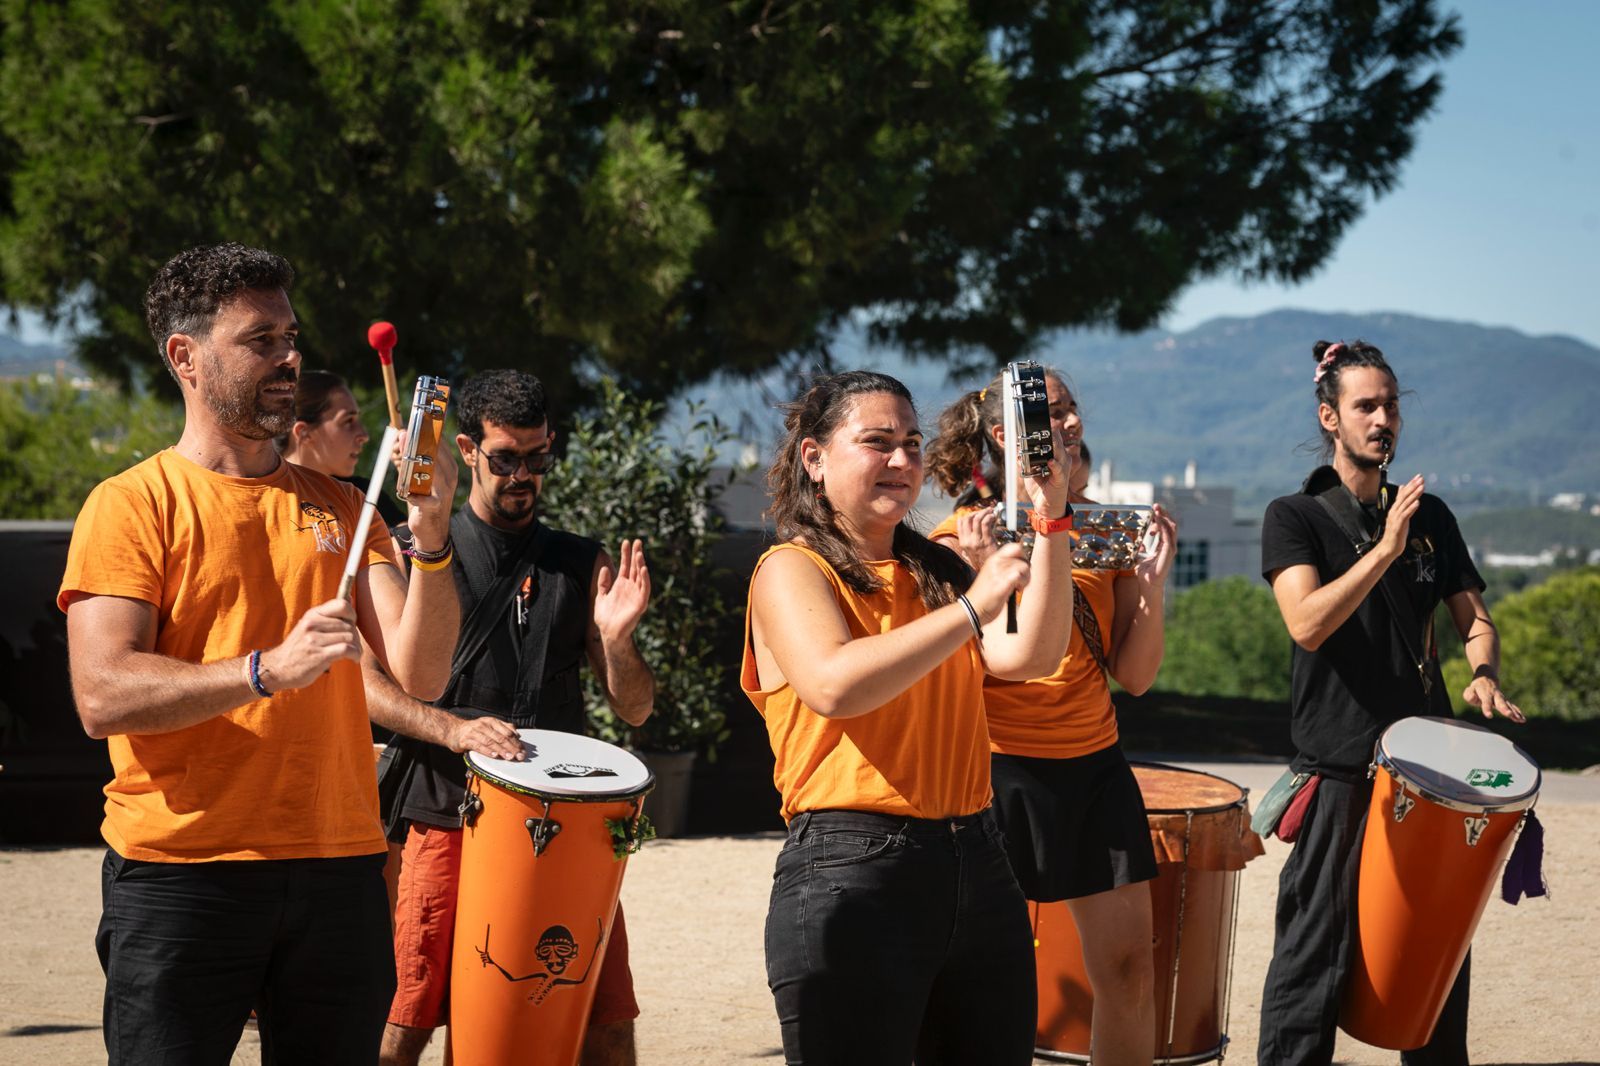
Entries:
<svg viewBox="0 0 1600 1066">
<path fill-rule="evenodd" d="M 960 514 L 960 512 L 957 512 Z M 934 527 L 931 538 L 955 536 L 957 515 Z M 1082 595 L 1101 631 L 1101 648 L 1110 655 L 1110 627 L 1117 616 L 1117 578 L 1130 570 L 1074 570 L 1074 595 Z M 989 741 L 1005 755 L 1075 759 L 1117 743 L 1117 709 L 1106 674 L 1077 624 L 1067 655 L 1048 677 L 1013 682 L 984 680 Z"/>
</svg>

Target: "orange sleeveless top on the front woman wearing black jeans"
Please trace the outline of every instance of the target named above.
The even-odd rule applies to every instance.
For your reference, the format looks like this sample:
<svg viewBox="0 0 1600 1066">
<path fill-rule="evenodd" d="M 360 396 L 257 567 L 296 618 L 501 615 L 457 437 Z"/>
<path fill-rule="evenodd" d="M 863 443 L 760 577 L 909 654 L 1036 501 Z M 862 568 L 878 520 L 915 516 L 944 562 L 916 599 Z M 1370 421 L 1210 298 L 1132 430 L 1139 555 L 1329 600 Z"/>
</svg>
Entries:
<svg viewBox="0 0 1600 1066">
<path fill-rule="evenodd" d="M 768 549 L 755 573 L 782 551 L 803 552 L 816 563 L 834 587 L 853 639 L 888 632 L 928 613 L 910 571 L 894 560 L 869 563 L 886 587 L 862 595 L 800 544 Z M 750 583 L 754 587 L 755 575 Z M 853 719 L 829 719 L 808 707 L 787 682 L 762 690 L 746 615 L 739 687 L 766 720 L 784 821 L 808 810 L 954 818 L 989 807 L 982 679 L 978 642 L 968 640 L 882 707 Z"/>
</svg>

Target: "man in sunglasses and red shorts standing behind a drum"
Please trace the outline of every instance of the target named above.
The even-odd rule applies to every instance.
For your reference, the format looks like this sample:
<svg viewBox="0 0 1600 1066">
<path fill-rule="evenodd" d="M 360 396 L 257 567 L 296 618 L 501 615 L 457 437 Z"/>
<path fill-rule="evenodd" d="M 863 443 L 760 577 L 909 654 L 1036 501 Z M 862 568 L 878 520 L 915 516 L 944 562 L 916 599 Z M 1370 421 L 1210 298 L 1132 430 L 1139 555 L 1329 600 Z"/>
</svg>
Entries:
<svg viewBox="0 0 1600 1066">
<path fill-rule="evenodd" d="M 477 375 L 456 392 L 454 407 L 456 445 L 472 474 L 467 506 L 450 523 L 464 621 L 458 661 L 435 704 L 458 717 L 493 719 L 507 738 L 507 727 L 582 733 L 579 664 L 587 659 L 611 709 L 643 723 L 656 683 L 634 647 L 650 600 L 640 541 L 622 541 L 613 562 L 602 544 L 539 522 L 555 434 L 538 378 L 517 370 Z M 374 701 L 373 720 L 403 735 L 390 746 L 395 757 L 379 789 L 389 839 L 405 845 L 395 906 L 400 981 L 381 1061 L 410 1064 L 450 1013 L 466 765 L 438 743 L 437 727 L 426 725 L 442 715 L 406 703 Z M 637 1016 L 618 909 L 582 1064 L 630 1066 Z"/>
</svg>

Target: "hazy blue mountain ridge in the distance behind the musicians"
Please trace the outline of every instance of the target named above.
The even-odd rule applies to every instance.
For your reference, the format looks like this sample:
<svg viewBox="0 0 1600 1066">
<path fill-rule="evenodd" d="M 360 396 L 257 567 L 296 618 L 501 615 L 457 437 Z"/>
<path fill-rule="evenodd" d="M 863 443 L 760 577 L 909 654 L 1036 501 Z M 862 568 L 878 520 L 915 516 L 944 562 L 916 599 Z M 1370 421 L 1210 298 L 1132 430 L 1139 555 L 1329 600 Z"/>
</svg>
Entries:
<svg viewBox="0 0 1600 1066">
<path fill-rule="evenodd" d="M 1312 343 L 1357 338 L 1384 351 L 1405 389 L 1395 480 L 1422 472 L 1466 509 L 1600 491 L 1600 349 L 1566 336 L 1403 314 L 1275 311 L 1182 333 L 1062 335 L 1038 360 L 1070 378 L 1096 464 L 1112 459 L 1118 479 L 1160 482 L 1194 459 L 1202 485 L 1234 485 L 1242 504 L 1259 506 L 1293 491 L 1318 463 Z M 859 336 L 842 338 L 834 362 L 899 376 L 928 431 L 944 405 L 979 384 L 867 349 Z M 789 391 L 768 375 L 688 394 L 730 421 L 742 416 L 747 437 L 770 451 L 778 418 L 766 399 Z M 1310 451 L 1301 450 L 1307 443 Z"/>
</svg>

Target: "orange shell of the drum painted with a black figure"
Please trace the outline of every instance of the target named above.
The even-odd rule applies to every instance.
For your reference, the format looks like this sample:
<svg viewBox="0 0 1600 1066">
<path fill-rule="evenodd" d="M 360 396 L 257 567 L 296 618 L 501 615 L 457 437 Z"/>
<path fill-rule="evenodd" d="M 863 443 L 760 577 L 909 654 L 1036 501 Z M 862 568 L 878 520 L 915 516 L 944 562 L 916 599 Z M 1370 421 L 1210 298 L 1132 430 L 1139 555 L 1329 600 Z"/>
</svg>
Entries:
<svg viewBox="0 0 1600 1066">
<path fill-rule="evenodd" d="M 627 868 L 626 856 L 613 855 L 605 821 L 632 818 L 642 797 L 582 804 L 555 797 L 550 816 L 562 831 L 534 856 L 525 823 L 544 816 L 544 800 L 482 778 L 470 781 L 478 784 L 483 810 L 461 842 L 450 970 L 453 1061 L 574 1066 Z M 550 986 L 541 976 L 510 981 L 478 956 L 485 930 L 493 928 L 494 962 L 514 976 L 546 973 L 534 946 L 555 925 L 578 941 L 578 954 L 560 976 L 578 978 L 587 970 L 581 984 Z M 544 997 L 534 1002 L 541 991 Z"/>
</svg>

